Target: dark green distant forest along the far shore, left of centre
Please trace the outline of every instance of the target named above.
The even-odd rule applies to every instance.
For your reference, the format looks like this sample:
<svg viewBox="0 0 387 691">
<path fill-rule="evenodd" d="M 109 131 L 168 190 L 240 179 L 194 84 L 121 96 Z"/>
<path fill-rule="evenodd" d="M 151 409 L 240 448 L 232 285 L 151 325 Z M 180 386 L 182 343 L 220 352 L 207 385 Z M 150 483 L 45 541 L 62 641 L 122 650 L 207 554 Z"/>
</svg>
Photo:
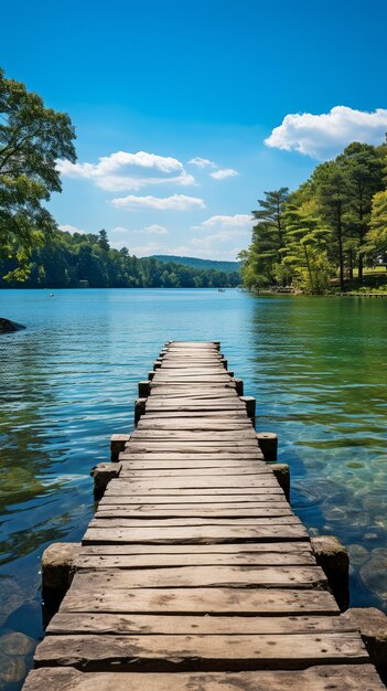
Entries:
<svg viewBox="0 0 387 691">
<path fill-rule="evenodd" d="M 15 258 L 0 262 L 0 276 L 14 275 Z M 74 288 L 87 281 L 92 288 L 217 288 L 235 287 L 239 272 L 197 269 L 153 257 L 139 259 L 128 249 L 109 247 L 107 234 L 64 233 L 54 230 L 51 242 L 31 251 L 25 288 Z M 0 279 L 0 287 L 20 286 L 17 278 Z"/>
</svg>

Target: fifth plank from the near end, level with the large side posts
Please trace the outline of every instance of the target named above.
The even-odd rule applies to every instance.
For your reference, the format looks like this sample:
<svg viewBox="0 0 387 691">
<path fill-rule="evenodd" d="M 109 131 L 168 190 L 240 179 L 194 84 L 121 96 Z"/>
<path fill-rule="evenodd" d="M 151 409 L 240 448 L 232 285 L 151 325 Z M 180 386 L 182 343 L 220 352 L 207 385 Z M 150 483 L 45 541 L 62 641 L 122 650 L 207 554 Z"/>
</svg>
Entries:
<svg viewBox="0 0 387 691">
<path fill-rule="evenodd" d="M 73 587 L 181 588 L 181 587 L 324 587 L 326 578 L 320 566 L 168 566 L 163 568 L 82 570 L 73 578 Z"/>
</svg>

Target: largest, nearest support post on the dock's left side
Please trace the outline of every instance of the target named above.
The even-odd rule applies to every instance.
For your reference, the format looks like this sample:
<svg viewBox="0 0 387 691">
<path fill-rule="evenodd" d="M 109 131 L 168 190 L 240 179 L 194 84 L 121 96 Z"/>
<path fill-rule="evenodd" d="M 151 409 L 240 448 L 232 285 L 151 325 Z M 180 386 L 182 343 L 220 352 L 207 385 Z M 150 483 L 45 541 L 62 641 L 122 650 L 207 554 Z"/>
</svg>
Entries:
<svg viewBox="0 0 387 691">
<path fill-rule="evenodd" d="M 42 599 L 44 618 L 50 620 L 58 610 L 73 577 L 73 564 L 80 542 L 53 542 L 42 555 Z"/>
</svg>

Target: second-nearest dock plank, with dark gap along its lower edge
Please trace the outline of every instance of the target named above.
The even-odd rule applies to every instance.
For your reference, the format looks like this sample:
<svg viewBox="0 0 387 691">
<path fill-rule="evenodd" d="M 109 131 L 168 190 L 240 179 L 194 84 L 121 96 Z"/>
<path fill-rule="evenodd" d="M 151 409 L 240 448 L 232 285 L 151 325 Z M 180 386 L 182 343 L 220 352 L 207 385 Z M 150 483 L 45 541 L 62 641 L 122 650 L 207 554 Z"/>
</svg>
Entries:
<svg viewBox="0 0 387 691">
<path fill-rule="evenodd" d="M 358 632 L 262 634 L 255 636 L 46 636 L 35 667 L 74 666 L 84 671 L 143 672 L 305 668 L 315 663 L 367 662 Z"/>
</svg>

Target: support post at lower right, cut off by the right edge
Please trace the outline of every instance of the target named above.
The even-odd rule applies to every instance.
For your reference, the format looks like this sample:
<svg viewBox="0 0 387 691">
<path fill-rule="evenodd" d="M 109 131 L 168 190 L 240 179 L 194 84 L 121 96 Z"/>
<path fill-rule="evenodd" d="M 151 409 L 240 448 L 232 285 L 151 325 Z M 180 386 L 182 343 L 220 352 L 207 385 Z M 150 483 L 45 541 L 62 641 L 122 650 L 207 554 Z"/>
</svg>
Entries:
<svg viewBox="0 0 387 691">
<path fill-rule="evenodd" d="M 370 661 L 375 665 L 383 681 L 387 677 L 387 616 L 376 607 L 351 607 L 340 619 L 357 628 L 367 648 Z"/>
</svg>

